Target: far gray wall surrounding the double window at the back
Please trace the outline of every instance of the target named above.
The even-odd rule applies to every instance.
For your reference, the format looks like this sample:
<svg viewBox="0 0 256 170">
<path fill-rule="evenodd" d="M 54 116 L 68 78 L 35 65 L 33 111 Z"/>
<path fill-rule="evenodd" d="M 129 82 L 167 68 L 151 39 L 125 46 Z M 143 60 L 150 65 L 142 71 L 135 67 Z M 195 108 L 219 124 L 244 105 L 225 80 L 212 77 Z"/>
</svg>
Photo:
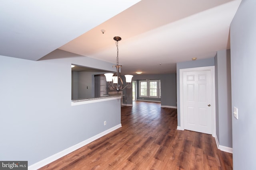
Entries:
<svg viewBox="0 0 256 170">
<path fill-rule="evenodd" d="M 159 100 L 162 106 L 177 106 L 176 96 L 176 73 L 172 74 L 140 74 L 134 75 L 135 80 L 161 80 L 161 98 L 144 98 L 144 100 Z M 137 86 L 139 86 L 137 82 Z M 139 97 L 139 90 L 137 90 L 137 98 Z M 131 93 L 132 95 L 132 93 Z M 131 99 L 132 100 L 132 99 Z"/>
</svg>

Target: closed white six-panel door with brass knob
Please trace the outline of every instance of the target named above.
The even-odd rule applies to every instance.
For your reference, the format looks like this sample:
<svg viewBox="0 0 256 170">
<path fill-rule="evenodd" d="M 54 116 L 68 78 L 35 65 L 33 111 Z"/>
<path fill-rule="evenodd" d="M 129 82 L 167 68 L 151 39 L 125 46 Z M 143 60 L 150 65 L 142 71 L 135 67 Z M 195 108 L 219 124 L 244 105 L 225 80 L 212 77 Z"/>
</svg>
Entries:
<svg viewBox="0 0 256 170">
<path fill-rule="evenodd" d="M 183 72 L 184 129 L 212 134 L 210 70 Z"/>
</svg>

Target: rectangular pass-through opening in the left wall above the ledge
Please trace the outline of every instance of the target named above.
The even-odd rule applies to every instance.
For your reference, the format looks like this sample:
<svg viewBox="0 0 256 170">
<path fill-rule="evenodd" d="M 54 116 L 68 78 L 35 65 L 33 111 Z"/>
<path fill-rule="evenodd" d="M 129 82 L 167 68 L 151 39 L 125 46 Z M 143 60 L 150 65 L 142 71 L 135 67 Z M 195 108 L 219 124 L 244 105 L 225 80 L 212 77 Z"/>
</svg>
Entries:
<svg viewBox="0 0 256 170">
<path fill-rule="evenodd" d="M 98 98 L 106 94 L 104 74 L 109 71 L 72 64 L 71 100 Z"/>
</svg>

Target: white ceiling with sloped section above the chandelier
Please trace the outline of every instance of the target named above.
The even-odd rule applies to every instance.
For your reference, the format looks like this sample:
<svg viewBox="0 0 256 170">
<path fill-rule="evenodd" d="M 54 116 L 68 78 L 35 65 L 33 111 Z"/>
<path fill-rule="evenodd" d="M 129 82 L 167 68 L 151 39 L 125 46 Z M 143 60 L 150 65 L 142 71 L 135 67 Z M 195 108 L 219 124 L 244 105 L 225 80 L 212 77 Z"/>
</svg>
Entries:
<svg viewBox="0 0 256 170">
<path fill-rule="evenodd" d="M 0 55 L 36 61 L 62 49 L 115 63 L 113 37 L 120 36 L 122 74 L 172 73 L 178 62 L 230 48 L 229 25 L 240 2 L 1 0 Z"/>
</svg>

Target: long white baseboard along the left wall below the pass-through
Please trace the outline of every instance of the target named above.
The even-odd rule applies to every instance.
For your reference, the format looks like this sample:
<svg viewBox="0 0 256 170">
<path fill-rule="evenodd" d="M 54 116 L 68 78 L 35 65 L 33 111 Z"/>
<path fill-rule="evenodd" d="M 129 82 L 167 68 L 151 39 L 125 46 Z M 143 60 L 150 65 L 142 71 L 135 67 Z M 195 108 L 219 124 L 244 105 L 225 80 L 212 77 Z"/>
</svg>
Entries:
<svg viewBox="0 0 256 170">
<path fill-rule="evenodd" d="M 87 145 L 88 143 L 91 143 L 92 141 L 95 141 L 96 139 L 99 139 L 100 137 L 102 137 L 102 136 L 104 136 L 104 135 L 106 135 L 106 134 L 108 134 L 108 133 L 110 133 L 110 132 L 112 132 L 112 131 L 120 128 L 120 127 L 122 127 L 121 123 L 119 125 L 116 125 L 116 126 L 110 128 L 110 129 L 102 132 L 102 133 L 99 133 L 98 135 L 95 135 L 94 137 L 86 139 L 85 141 L 82 141 L 82 142 L 80 142 L 80 143 L 78 143 L 78 144 L 76 144 L 76 145 L 74 145 L 72 147 L 64 149 L 64 150 L 62 150 L 62 151 L 60 151 L 60 152 L 58 152 L 58 153 L 56 153 L 56 154 L 54 154 L 52 156 L 49 156 L 48 158 L 45 158 L 45 159 L 43 159 L 43 160 L 41 160 L 39 162 L 36 162 L 35 164 L 32 164 L 32 165 L 28 166 L 28 170 L 37 170 L 37 169 L 39 169 L 39 168 L 41 168 L 41 167 L 43 167 L 43 166 L 45 166 L 47 164 L 50 164 L 54 160 L 57 160 L 57 159 L 65 156 L 65 155 L 73 152 L 74 150 L 77 150 L 77 149 Z"/>
</svg>

